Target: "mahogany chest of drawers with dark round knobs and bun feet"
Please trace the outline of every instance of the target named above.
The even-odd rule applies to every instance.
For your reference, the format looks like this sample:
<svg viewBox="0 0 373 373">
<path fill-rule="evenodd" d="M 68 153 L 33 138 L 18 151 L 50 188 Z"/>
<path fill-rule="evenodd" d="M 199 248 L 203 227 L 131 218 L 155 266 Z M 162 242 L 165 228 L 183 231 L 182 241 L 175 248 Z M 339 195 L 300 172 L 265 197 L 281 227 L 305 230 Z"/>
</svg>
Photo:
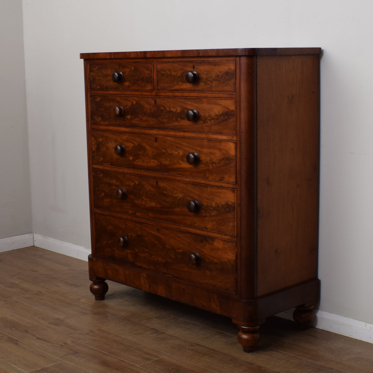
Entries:
<svg viewBox="0 0 373 373">
<path fill-rule="evenodd" d="M 106 279 L 266 317 L 317 279 L 320 48 L 83 53 L 91 292 Z"/>
</svg>

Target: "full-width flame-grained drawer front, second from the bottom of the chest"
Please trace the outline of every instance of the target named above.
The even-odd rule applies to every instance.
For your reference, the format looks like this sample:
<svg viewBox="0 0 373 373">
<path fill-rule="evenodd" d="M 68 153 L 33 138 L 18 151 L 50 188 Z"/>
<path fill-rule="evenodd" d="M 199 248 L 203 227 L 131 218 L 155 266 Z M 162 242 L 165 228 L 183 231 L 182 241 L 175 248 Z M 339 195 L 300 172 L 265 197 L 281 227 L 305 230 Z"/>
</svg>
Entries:
<svg viewBox="0 0 373 373">
<path fill-rule="evenodd" d="M 196 211 L 188 210 L 189 201 L 198 201 L 189 206 Z M 236 189 L 232 188 L 93 169 L 93 204 L 98 209 L 236 234 Z"/>
</svg>

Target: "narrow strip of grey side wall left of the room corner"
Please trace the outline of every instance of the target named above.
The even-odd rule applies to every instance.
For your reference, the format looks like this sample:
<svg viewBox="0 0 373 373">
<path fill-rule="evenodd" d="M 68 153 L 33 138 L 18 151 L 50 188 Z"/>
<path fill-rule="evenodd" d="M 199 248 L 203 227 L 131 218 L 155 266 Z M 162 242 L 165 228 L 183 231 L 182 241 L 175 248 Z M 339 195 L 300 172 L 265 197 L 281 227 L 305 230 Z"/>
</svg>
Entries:
<svg viewBox="0 0 373 373">
<path fill-rule="evenodd" d="M 0 238 L 32 232 L 22 1 L 0 2 Z"/>
</svg>

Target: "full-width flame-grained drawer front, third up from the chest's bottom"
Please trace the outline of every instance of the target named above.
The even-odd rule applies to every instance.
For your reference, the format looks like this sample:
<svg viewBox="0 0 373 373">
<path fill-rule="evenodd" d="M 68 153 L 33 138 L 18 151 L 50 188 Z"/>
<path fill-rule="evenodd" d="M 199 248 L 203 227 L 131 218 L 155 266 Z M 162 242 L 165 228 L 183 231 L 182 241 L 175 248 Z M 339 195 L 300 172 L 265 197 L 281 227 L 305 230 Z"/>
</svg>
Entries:
<svg viewBox="0 0 373 373">
<path fill-rule="evenodd" d="M 179 136 L 164 136 L 93 129 L 94 164 L 125 167 L 172 175 L 234 183 L 236 143 Z M 117 145 L 121 155 L 115 153 Z M 194 154 L 196 153 L 196 154 Z M 194 159 L 198 163 L 189 164 Z M 197 158 L 198 156 L 198 158 Z"/>
</svg>

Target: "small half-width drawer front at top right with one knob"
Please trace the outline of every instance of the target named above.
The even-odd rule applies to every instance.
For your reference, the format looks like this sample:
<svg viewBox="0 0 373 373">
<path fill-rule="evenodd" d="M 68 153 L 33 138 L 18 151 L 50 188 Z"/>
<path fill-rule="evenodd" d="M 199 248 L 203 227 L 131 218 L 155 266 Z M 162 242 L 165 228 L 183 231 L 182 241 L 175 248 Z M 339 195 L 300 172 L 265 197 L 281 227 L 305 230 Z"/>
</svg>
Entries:
<svg viewBox="0 0 373 373">
<path fill-rule="evenodd" d="M 235 93 L 235 61 L 157 62 L 157 90 L 179 92 Z M 196 72 L 194 83 L 186 81 L 186 73 Z"/>
</svg>

